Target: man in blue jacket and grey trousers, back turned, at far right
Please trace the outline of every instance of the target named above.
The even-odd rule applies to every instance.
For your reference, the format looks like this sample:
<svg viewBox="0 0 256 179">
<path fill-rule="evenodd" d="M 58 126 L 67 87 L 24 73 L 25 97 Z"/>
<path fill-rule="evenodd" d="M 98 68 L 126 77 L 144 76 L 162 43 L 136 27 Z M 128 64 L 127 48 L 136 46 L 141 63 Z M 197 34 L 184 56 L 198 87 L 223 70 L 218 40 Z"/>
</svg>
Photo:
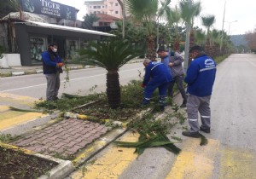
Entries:
<svg viewBox="0 0 256 179">
<path fill-rule="evenodd" d="M 190 129 L 183 131 L 183 136 L 200 137 L 199 130 L 210 133 L 212 86 L 216 75 L 216 62 L 207 56 L 200 46 L 189 50 L 191 62 L 184 81 L 188 84 L 187 113 Z M 201 126 L 198 123 L 198 112 L 201 115 Z"/>
</svg>

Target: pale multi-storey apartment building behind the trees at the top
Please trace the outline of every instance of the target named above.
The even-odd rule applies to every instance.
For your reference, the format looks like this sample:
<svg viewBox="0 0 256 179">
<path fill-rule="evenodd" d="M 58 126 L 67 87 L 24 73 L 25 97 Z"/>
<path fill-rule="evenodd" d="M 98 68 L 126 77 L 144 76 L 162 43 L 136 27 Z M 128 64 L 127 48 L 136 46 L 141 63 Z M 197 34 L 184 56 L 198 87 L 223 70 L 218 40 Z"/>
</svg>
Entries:
<svg viewBox="0 0 256 179">
<path fill-rule="evenodd" d="M 117 0 L 84 1 L 87 14 L 108 14 L 123 19 L 122 8 Z"/>
</svg>

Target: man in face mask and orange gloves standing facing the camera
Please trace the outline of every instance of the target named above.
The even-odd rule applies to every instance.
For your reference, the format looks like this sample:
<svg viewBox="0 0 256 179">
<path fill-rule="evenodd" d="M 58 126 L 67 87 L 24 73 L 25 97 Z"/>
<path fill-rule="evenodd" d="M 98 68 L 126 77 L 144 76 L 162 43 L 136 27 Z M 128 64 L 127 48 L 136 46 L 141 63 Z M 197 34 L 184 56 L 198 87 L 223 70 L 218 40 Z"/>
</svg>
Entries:
<svg viewBox="0 0 256 179">
<path fill-rule="evenodd" d="M 60 56 L 57 54 L 56 43 L 49 43 L 48 50 L 42 53 L 43 71 L 47 80 L 46 100 L 55 101 L 58 99 L 60 89 L 60 72 L 63 66 Z"/>
</svg>

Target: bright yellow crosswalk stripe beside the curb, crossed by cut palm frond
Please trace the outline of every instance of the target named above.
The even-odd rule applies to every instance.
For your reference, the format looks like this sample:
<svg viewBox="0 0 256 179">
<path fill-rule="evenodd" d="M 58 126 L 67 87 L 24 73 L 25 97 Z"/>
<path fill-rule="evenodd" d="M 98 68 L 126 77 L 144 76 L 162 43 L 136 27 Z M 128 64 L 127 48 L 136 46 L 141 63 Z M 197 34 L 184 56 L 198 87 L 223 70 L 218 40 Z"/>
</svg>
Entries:
<svg viewBox="0 0 256 179">
<path fill-rule="evenodd" d="M 138 135 L 128 134 L 122 137 L 121 141 L 137 141 Z M 108 149 L 107 153 L 93 164 L 85 165 L 81 169 L 77 170 L 72 178 L 73 179 L 109 179 L 118 178 L 123 170 L 131 164 L 133 160 L 137 158 L 137 154 L 134 153 L 135 148 L 116 147 L 113 146 Z"/>
</svg>

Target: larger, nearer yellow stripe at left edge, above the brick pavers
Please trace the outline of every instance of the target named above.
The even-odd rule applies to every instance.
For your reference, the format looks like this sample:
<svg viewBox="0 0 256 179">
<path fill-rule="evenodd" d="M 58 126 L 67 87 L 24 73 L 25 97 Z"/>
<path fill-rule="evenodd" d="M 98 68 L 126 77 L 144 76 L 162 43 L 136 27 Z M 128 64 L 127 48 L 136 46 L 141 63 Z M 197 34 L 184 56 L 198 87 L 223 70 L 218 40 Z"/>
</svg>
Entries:
<svg viewBox="0 0 256 179">
<path fill-rule="evenodd" d="M 30 121 L 35 118 L 43 117 L 43 113 L 22 113 L 22 112 L 5 112 L 0 116 L 0 130 L 7 129 L 17 124 Z"/>
</svg>

